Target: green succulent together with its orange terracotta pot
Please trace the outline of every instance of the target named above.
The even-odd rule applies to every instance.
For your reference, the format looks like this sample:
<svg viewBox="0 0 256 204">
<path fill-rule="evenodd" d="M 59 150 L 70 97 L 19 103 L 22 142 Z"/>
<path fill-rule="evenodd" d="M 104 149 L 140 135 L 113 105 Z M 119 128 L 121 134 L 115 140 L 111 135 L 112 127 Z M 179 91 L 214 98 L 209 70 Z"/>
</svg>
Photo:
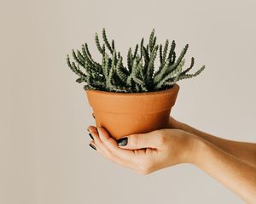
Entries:
<svg viewBox="0 0 256 204">
<path fill-rule="evenodd" d="M 110 43 L 105 28 L 102 30 L 103 44 L 96 33 L 96 47 L 102 54 L 102 63 L 96 62 L 87 43 L 81 50 L 73 50 L 73 61 L 67 55 L 67 65 L 84 82 L 84 90 L 96 119 L 96 126 L 105 127 L 114 139 L 131 133 L 147 133 L 164 128 L 169 120 L 172 106 L 177 99 L 177 81 L 195 77 L 205 69 L 205 65 L 194 74 L 189 71 L 195 64 L 192 57 L 188 68 L 183 69 L 189 44 L 176 55 L 173 40 L 158 45 L 151 31 L 149 42 L 139 44 L 127 54 L 127 65 Z M 108 52 L 107 52 L 108 51 Z M 159 52 L 160 65 L 154 69 L 154 60 Z"/>
</svg>

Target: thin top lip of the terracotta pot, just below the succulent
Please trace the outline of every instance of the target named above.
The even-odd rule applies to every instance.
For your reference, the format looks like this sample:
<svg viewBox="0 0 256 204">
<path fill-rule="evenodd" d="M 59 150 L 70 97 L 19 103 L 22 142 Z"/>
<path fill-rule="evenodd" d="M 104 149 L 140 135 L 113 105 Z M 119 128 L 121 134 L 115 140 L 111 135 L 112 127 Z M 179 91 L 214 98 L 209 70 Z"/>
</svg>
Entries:
<svg viewBox="0 0 256 204">
<path fill-rule="evenodd" d="M 116 95 L 116 96 L 142 96 L 142 95 L 157 95 L 157 94 L 167 94 L 169 92 L 172 92 L 174 89 L 179 89 L 179 86 L 177 83 L 174 83 L 172 88 L 168 88 L 166 90 L 160 90 L 160 91 L 154 91 L 154 92 L 140 92 L 140 93 L 123 93 L 123 92 L 108 92 L 103 90 L 85 90 L 85 92 L 96 92 L 98 94 L 104 94 L 104 95 Z"/>
</svg>

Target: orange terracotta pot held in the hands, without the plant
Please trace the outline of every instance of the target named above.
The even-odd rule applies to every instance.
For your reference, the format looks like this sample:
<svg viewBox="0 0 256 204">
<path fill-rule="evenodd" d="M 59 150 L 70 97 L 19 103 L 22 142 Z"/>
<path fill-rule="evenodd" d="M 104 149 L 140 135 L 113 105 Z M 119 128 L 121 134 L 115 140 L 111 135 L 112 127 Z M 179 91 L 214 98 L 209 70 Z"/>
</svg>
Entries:
<svg viewBox="0 0 256 204">
<path fill-rule="evenodd" d="M 167 127 L 179 86 L 148 93 L 115 93 L 86 90 L 96 119 L 114 139 Z"/>
</svg>

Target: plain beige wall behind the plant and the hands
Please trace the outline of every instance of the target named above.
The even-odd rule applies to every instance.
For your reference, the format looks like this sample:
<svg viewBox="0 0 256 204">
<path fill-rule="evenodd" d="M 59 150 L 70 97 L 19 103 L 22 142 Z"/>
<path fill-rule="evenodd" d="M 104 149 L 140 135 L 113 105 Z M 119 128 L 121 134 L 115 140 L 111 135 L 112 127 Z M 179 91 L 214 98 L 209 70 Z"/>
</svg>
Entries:
<svg viewBox="0 0 256 204">
<path fill-rule="evenodd" d="M 83 85 L 66 65 L 72 48 L 106 27 L 122 54 L 152 28 L 158 42 L 189 43 L 172 114 L 226 139 L 255 142 L 255 1 L 3 1 L 0 5 L 0 203 L 243 203 L 191 165 L 137 175 L 99 156 Z"/>
</svg>

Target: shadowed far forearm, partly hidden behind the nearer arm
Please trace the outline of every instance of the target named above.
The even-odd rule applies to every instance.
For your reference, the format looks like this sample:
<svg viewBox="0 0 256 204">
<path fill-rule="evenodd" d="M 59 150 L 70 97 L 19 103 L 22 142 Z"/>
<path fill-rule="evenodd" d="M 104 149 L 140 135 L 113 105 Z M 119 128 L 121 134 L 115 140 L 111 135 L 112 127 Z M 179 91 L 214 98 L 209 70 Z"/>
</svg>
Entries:
<svg viewBox="0 0 256 204">
<path fill-rule="evenodd" d="M 221 139 L 209 133 L 204 133 L 200 130 L 197 130 L 194 127 L 190 127 L 187 124 L 184 124 L 182 122 L 176 122 L 174 120 L 172 121 L 172 123 L 170 123 L 170 125 L 172 127 L 182 129 L 183 131 L 186 131 L 188 133 L 195 134 L 202 139 L 206 139 L 207 141 L 218 146 L 218 148 L 226 151 L 230 155 L 236 156 L 236 158 L 256 167 L 256 144 Z"/>
</svg>

